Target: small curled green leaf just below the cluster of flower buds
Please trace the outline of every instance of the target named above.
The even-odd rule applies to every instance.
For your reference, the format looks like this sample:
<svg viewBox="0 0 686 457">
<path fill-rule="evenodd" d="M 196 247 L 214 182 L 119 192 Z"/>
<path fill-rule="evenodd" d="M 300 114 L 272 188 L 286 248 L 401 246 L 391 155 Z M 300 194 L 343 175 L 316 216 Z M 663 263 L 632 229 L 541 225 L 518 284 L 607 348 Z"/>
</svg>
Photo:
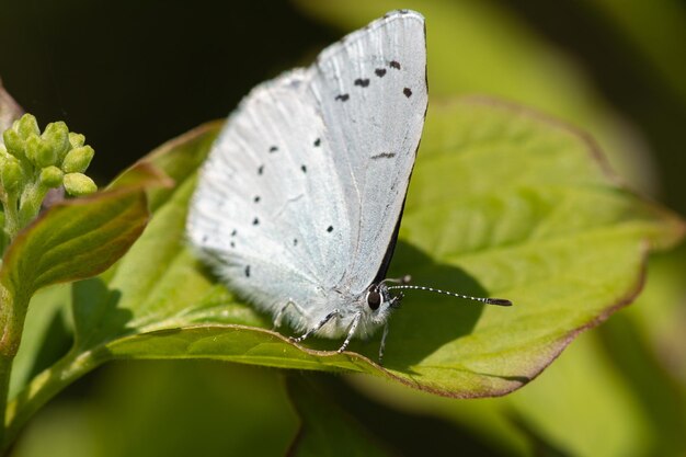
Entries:
<svg viewBox="0 0 686 457">
<path fill-rule="evenodd" d="M 32 293 L 98 274 L 126 252 L 147 219 L 139 187 L 62 201 L 18 235 L 0 278 L 15 292 Z"/>
</svg>

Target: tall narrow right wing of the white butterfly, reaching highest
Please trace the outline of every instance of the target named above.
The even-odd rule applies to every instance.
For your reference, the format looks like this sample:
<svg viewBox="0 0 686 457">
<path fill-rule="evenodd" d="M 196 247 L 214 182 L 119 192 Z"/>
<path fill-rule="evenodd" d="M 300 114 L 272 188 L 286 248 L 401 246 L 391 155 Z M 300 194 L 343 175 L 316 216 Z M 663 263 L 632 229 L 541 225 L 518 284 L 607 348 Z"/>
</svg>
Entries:
<svg viewBox="0 0 686 457">
<path fill-rule="evenodd" d="M 424 19 L 407 10 L 389 13 L 325 49 L 313 69 L 312 91 L 354 224 L 341 286 L 356 294 L 381 266 L 424 126 Z"/>
</svg>

